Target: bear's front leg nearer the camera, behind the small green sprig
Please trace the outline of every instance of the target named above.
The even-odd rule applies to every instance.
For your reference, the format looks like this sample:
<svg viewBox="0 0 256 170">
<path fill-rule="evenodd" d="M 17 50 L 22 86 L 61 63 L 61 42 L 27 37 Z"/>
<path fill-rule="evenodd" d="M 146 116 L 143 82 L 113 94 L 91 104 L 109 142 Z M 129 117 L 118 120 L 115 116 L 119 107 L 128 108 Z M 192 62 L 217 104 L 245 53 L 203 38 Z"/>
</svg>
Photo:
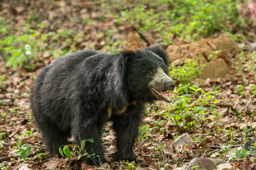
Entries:
<svg viewBox="0 0 256 170">
<path fill-rule="evenodd" d="M 75 141 L 81 147 L 82 140 L 93 139 L 93 142 L 85 142 L 85 151 L 87 155 L 83 157 L 87 165 L 100 165 L 105 162 L 102 142 L 101 142 L 101 129 L 102 125 L 95 123 L 91 119 L 84 120 L 83 123 L 79 124 L 74 130 Z M 83 148 L 84 149 L 84 148 Z M 85 152 L 81 152 L 85 154 Z M 92 155 L 93 154 L 93 155 Z M 88 157 L 92 155 L 92 157 Z"/>
</svg>

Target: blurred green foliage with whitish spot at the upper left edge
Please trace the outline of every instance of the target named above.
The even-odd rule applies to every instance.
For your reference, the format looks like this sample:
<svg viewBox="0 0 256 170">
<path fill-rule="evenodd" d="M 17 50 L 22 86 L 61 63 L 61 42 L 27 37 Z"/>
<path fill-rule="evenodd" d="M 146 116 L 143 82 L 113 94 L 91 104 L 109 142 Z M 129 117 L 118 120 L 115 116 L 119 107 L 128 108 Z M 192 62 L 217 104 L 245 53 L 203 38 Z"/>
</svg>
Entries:
<svg viewBox="0 0 256 170">
<path fill-rule="evenodd" d="M 44 28 L 45 21 L 39 23 L 37 28 Z M 41 33 L 41 30 L 33 28 L 27 24 L 22 28 L 13 28 L 13 32 L 9 29 L 8 24 L 4 22 L 4 18 L 0 17 L 0 52 L 6 60 L 6 66 L 13 67 L 16 70 L 18 67 L 25 69 L 33 69 L 35 61 L 38 60 L 38 53 L 48 53 L 53 58 L 67 55 L 69 51 L 75 52 L 75 46 L 71 47 L 78 38 L 84 35 L 73 35 L 73 30 L 58 29 L 55 32 L 50 31 L 46 34 Z M 47 50 L 45 45 L 48 45 L 50 50 Z M 61 47 L 60 47 L 61 46 Z M 62 50 L 60 50 L 60 48 Z M 1 77 L 0 77 L 1 85 Z M 1 92 L 1 87 L 0 87 Z"/>
</svg>

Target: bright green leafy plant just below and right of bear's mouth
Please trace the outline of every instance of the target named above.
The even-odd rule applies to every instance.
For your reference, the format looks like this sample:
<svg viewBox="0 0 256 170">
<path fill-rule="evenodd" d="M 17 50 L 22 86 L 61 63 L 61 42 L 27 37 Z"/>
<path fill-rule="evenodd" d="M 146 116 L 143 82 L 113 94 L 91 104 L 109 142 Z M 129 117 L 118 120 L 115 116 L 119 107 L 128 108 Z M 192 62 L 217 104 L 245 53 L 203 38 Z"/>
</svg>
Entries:
<svg viewBox="0 0 256 170">
<path fill-rule="evenodd" d="M 196 127 L 196 120 L 201 120 L 201 118 L 204 117 L 203 115 L 210 112 L 214 113 L 216 118 L 220 117 L 214 110 L 215 104 L 218 103 L 215 96 L 218 95 L 219 92 L 220 91 L 205 92 L 203 89 L 198 88 L 198 86 L 191 84 L 185 86 L 180 85 L 178 89 L 174 91 L 177 96 L 173 104 L 175 111 L 174 113 L 169 113 L 171 122 L 176 125 L 181 125 L 182 123 L 184 128 L 189 128 Z M 206 108 L 205 106 L 210 106 L 210 108 Z M 191 118 L 193 119 L 191 120 Z"/>
</svg>

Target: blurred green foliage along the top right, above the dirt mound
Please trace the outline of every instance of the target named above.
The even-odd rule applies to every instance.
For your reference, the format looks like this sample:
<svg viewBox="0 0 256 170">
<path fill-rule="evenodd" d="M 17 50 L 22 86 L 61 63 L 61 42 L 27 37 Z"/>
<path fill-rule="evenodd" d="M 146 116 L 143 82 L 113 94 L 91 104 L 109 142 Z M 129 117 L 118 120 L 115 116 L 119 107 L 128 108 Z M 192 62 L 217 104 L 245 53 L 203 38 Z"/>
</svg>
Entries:
<svg viewBox="0 0 256 170">
<path fill-rule="evenodd" d="M 141 31 L 159 33 L 159 41 L 164 44 L 170 44 L 175 36 L 184 40 L 208 37 L 220 29 L 228 30 L 225 23 L 239 26 L 241 22 L 238 2 L 231 0 L 112 0 L 110 3 L 105 4 L 107 11 L 120 13 L 110 14 L 115 23 L 122 18 L 124 23 Z"/>
</svg>

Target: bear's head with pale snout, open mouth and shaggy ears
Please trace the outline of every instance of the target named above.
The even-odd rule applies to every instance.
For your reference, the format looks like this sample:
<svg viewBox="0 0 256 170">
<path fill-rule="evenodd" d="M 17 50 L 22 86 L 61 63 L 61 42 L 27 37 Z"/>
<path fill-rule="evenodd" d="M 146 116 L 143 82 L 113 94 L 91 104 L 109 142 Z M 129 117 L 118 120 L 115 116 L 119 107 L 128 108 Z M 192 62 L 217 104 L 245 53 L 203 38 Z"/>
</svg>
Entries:
<svg viewBox="0 0 256 170">
<path fill-rule="evenodd" d="M 166 52 L 159 46 L 148 47 L 127 55 L 127 81 L 130 101 L 170 102 L 174 81 L 168 76 Z"/>
</svg>

